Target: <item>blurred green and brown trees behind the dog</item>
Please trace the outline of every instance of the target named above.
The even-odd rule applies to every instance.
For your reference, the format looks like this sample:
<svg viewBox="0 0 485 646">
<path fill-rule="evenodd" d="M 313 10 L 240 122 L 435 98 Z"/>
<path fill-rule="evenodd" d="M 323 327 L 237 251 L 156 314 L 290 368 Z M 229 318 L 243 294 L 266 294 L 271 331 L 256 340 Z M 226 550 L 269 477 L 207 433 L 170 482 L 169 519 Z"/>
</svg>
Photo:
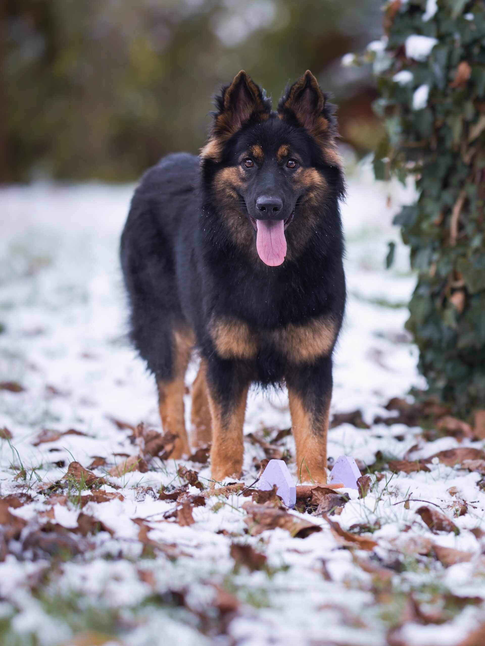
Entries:
<svg viewBox="0 0 485 646">
<path fill-rule="evenodd" d="M 307 68 L 343 140 L 380 138 L 369 70 L 381 0 L 0 0 L 0 181 L 135 180 L 197 152 L 211 96 L 244 68 L 275 99 Z"/>
</svg>

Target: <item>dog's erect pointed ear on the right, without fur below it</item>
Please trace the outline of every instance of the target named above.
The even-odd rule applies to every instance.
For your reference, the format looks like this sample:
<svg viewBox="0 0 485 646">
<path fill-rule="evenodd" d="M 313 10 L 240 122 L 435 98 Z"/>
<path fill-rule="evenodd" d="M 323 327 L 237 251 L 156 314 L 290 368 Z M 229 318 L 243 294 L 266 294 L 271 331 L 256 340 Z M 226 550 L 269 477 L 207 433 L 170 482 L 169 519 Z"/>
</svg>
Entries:
<svg viewBox="0 0 485 646">
<path fill-rule="evenodd" d="M 319 143 L 324 143 L 334 136 L 329 129 L 330 114 L 326 114 L 326 102 L 317 79 L 307 70 L 279 101 L 278 114 L 280 118 L 296 120 Z"/>
</svg>

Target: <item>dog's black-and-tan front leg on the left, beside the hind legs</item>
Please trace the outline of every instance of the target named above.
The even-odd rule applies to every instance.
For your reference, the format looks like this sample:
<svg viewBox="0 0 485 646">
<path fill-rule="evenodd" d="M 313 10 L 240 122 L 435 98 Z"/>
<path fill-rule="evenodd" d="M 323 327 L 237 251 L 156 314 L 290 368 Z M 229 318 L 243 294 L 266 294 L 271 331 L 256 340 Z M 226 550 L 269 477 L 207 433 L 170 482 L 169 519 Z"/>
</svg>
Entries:
<svg viewBox="0 0 485 646">
<path fill-rule="evenodd" d="M 216 481 L 241 477 L 242 425 L 249 380 L 239 362 L 213 355 L 208 361 L 207 390 L 212 418 L 211 471 Z"/>
</svg>

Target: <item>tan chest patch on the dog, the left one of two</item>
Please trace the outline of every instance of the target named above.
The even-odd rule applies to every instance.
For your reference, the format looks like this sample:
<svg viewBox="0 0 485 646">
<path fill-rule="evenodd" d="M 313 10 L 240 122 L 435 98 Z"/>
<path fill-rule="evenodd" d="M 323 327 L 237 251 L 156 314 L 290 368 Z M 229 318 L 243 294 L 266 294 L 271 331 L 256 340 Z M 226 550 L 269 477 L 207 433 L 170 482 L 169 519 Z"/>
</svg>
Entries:
<svg viewBox="0 0 485 646">
<path fill-rule="evenodd" d="M 248 324 L 228 318 L 213 320 L 210 337 L 221 359 L 254 359 L 258 345 L 255 333 Z"/>
</svg>

